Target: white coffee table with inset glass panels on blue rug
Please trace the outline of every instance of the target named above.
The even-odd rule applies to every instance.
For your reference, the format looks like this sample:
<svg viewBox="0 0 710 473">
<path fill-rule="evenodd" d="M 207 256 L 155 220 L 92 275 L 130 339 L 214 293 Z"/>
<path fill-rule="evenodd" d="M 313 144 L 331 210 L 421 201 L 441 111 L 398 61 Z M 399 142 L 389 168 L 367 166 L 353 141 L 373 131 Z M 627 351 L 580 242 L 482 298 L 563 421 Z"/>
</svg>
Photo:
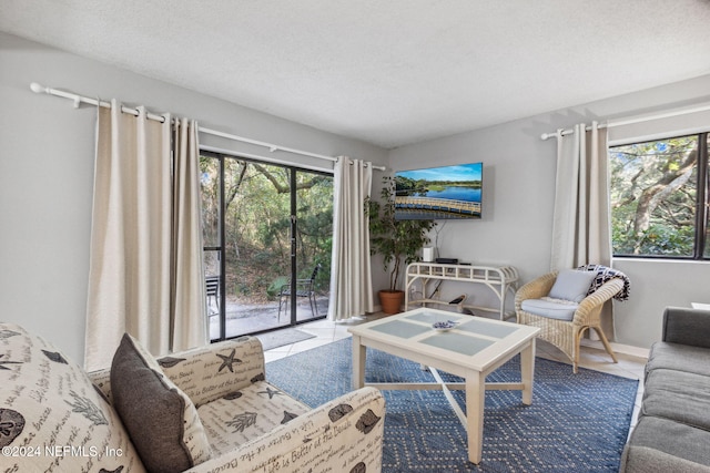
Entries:
<svg viewBox="0 0 710 473">
<path fill-rule="evenodd" d="M 432 325 L 454 320 L 456 328 L 439 332 Z M 486 390 L 520 390 L 523 403 L 532 402 L 535 336 L 539 328 L 422 308 L 348 329 L 353 335 L 353 388 L 365 385 L 366 347 L 429 367 L 437 382 L 367 383 L 378 389 L 440 389 L 468 433 L 468 460 L 479 463 L 483 452 Z M 486 376 L 520 353 L 520 382 L 487 383 Z M 445 383 L 436 369 L 464 378 Z M 449 392 L 466 390 L 466 412 Z"/>
</svg>

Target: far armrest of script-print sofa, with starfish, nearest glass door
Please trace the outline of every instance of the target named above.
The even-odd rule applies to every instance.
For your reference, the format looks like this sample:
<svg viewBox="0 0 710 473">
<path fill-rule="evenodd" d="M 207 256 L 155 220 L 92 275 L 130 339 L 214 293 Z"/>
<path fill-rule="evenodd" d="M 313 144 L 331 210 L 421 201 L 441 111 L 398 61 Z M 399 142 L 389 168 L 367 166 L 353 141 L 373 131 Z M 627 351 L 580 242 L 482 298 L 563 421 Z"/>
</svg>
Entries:
<svg viewBox="0 0 710 473">
<path fill-rule="evenodd" d="M 240 337 L 158 359 L 163 372 L 200 407 L 265 379 L 256 337 Z"/>
</svg>

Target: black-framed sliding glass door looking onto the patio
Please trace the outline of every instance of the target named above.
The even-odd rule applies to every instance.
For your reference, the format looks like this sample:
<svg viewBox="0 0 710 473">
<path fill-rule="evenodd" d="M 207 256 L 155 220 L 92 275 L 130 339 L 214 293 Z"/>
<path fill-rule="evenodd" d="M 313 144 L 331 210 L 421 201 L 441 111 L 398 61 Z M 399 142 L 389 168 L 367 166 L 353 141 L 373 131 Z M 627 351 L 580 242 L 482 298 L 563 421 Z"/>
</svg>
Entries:
<svg viewBox="0 0 710 473">
<path fill-rule="evenodd" d="M 201 166 L 211 339 L 325 317 L 332 176 L 206 152 Z"/>
</svg>

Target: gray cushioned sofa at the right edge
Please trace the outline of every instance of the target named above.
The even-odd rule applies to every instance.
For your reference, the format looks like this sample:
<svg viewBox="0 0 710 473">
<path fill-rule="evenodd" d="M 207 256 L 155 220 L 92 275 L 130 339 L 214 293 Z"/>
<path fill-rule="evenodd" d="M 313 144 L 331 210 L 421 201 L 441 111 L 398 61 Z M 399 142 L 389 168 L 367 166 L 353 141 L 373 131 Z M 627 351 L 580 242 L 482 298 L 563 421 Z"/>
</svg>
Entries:
<svg viewBox="0 0 710 473">
<path fill-rule="evenodd" d="M 621 472 L 710 472 L 710 310 L 669 307 Z"/>
</svg>

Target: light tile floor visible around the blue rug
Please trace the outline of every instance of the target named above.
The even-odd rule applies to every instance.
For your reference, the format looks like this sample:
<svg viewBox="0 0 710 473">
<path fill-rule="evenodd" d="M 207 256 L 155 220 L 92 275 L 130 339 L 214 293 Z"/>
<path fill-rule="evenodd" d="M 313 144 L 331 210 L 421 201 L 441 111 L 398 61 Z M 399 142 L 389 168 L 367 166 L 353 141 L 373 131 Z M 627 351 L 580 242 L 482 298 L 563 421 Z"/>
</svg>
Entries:
<svg viewBox="0 0 710 473">
<path fill-rule="evenodd" d="M 268 350 L 264 353 L 266 362 L 278 360 L 284 357 L 288 357 L 294 353 L 310 350 L 312 348 L 320 347 L 322 345 L 331 343 L 344 338 L 349 338 L 351 333 L 347 331 L 348 327 L 356 323 L 364 323 L 367 321 L 376 320 L 384 317 L 383 313 L 369 315 L 363 320 L 353 320 L 347 322 L 332 322 L 329 320 L 316 320 L 313 322 L 297 326 L 300 330 L 313 333 L 316 337 L 284 347 L 277 347 Z M 550 343 L 544 340 L 538 340 L 536 343 L 537 356 L 547 358 L 550 360 L 561 361 L 569 363 L 567 357 Z M 604 350 L 598 350 L 590 347 L 581 347 L 579 356 L 579 366 L 596 371 L 606 372 L 609 374 L 616 374 L 623 378 L 638 379 L 639 389 L 636 397 L 636 403 L 633 409 L 633 417 L 631 419 L 631 429 L 636 425 L 637 415 L 641 405 L 641 398 L 643 395 L 643 367 L 646 364 L 646 358 L 633 357 L 630 354 L 617 353 L 618 363 L 613 363 Z M 571 367 L 570 367 L 571 371 Z"/>
</svg>

